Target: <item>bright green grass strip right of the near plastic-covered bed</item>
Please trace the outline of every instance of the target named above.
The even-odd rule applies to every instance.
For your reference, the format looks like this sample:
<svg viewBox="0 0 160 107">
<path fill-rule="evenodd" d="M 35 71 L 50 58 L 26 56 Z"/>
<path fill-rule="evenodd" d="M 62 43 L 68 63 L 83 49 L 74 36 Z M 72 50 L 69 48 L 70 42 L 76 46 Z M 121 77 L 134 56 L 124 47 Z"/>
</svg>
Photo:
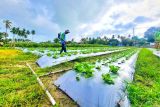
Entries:
<svg viewBox="0 0 160 107">
<path fill-rule="evenodd" d="M 159 107 L 160 58 L 142 49 L 135 71 L 134 81 L 127 87 L 132 107 Z"/>
</svg>

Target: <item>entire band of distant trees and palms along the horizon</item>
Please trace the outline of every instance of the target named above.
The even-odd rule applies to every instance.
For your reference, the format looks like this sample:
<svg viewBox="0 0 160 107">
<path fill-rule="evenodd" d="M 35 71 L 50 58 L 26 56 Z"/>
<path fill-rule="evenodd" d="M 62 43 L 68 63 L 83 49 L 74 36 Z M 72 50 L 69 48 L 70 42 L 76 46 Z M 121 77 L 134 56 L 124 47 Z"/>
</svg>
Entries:
<svg viewBox="0 0 160 107">
<path fill-rule="evenodd" d="M 10 20 L 4 20 L 5 31 L 0 32 L 0 46 L 20 46 L 20 47 L 38 47 L 38 46 L 60 46 L 59 39 L 55 38 L 53 41 L 34 43 L 33 35 L 35 35 L 35 30 L 28 30 L 25 28 L 19 28 L 12 26 Z M 8 38 L 9 33 L 11 32 L 12 38 Z M 100 44 L 100 45 L 109 45 L 109 46 L 149 46 L 149 43 L 156 42 L 156 47 L 160 48 L 159 39 L 160 27 L 150 27 L 145 33 L 145 38 L 139 38 L 138 36 L 131 35 L 112 35 L 111 38 L 97 37 L 97 38 L 81 38 L 80 42 L 75 42 L 74 39 L 68 41 L 68 46 L 77 46 L 78 44 Z M 57 35 L 56 35 L 57 36 Z M 84 45 L 83 45 L 84 46 Z M 45 46 L 44 46 L 45 47 Z"/>
</svg>

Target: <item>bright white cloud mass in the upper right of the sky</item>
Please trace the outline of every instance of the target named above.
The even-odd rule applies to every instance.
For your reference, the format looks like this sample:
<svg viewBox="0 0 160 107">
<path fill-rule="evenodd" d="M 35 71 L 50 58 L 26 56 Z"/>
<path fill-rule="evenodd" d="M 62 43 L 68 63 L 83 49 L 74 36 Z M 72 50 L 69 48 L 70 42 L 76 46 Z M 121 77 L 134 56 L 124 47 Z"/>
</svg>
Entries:
<svg viewBox="0 0 160 107">
<path fill-rule="evenodd" d="M 132 2 L 132 3 L 128 3 L 128 2 L 123 2 L 123 3 L 119 3 L 119 4 L 112 4 L 111 8 L 109 10 L 106 9 L 106 12 L 104 12 L 102 14 L 102 16 L 99 16 L 99 19 L 97 19 L 97 22 L 88 24 L 87 26 L 85 26 L 83 29 L 85 29 L 85 33 L 86 34 L 94 34 L 94 32 L 101 32 L 103 30 L 116 30 L 118 31 L 118 29 L 115 29 L 114 26 L 116 24 L 127 24 L 130 22 L 133 22 L 133 20 L 137 17 L 137 16 L 146 16 L 149 18 L 154 19 L 154 21 L 152 22 L 148 22 L 146 24 L 142 23 L 142 24 L 137 24 L 138 26 L 156 26 L 159 23 L 159 17 L 157 17 L 157 14 L 160 11 L 160 1 L 159 0 L 141 0 L 141 1 L 137 1 L 137 2 Z M 113 19 L 111 16 L 114 14 L 120 14 L 119 18 L 117 18 L 116 20 Z M 82 30 L 83 30 L 82 29 Z M 136 30 L 137 34 L 143 34 L 144 31 L 146 29 L 143 30 Z M 126 29 L 125 32 L 122 32 L 122 34 L 131 34 L 132 33 L 132 29 Z"/>
</svg>

